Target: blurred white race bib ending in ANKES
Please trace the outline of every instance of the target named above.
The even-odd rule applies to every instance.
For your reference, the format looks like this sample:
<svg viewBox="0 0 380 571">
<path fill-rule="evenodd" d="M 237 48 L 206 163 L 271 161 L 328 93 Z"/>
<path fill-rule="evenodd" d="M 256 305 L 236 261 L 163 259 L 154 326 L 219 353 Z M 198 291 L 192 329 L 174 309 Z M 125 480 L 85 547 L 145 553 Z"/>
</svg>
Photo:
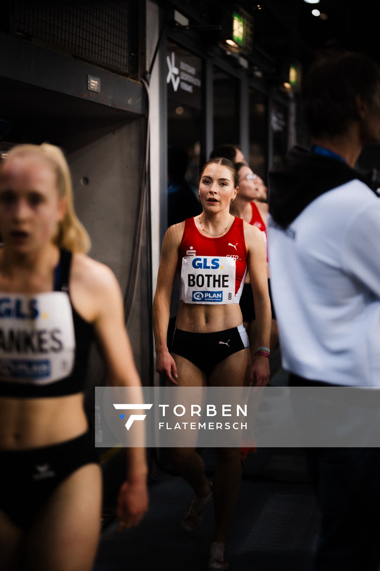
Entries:
<svg viewBox="0 0 380 571">
<path fill-rule="evenodd" d="M 71 374 L 75 332 L 67 293 L 0 293 L 0 380 L 47 385 Z"/>
</svg>

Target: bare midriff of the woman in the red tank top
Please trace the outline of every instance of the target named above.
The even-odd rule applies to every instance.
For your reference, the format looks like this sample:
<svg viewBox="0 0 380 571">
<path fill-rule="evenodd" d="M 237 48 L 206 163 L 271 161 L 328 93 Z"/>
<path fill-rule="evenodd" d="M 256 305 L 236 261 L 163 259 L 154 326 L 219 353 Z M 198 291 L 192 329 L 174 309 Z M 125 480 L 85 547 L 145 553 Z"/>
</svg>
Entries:
<svg viewBox="0 0 380 571">
<path fill-rule="evenodd" d="M 196 305 L 179 302 L 175 327 L 192 333 L 213 333 L 238 327 L 243 323 L 238 303 L 224 305 Z"/>
</svg>

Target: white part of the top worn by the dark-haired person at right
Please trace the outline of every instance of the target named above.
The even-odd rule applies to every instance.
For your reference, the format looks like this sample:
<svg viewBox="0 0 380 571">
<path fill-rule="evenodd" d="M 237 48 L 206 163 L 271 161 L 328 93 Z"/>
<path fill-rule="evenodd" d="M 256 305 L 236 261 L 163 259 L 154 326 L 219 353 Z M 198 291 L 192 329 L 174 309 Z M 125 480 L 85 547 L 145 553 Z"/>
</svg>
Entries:
<svg viewBox="0 0 380 571">
<path fill-rule="evenodd" d="M 319 196 L 286 230 L 270 216 L 268 226 L 284 369 L 380 386 L 379 198 L 352 180 Z"/>
</svg>

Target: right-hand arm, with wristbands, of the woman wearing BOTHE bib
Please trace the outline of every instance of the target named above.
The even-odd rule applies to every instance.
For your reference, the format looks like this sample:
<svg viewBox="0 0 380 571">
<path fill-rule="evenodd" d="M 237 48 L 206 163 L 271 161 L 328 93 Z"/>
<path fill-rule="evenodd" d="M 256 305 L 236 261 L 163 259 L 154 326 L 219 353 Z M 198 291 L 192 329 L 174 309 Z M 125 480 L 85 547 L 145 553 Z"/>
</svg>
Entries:
<svg viewBox="0 0 380 571">
<path fill-rule="evenodd" d="M 271 300 L 268 292 L 268 278 L 265 257 L 265 244 L 259 228 L 244 222 L 244 239 L 248 251 L 248 272 L 252 292 L 258 331 L 258 347 L 269 347 L 271 338 Z M 258 347 L 255 347 L 257 351 Z M 269 359 L 256 355 L 252 361 L 250 383 L 264 387 L 269 381 Z"/>
</svg>

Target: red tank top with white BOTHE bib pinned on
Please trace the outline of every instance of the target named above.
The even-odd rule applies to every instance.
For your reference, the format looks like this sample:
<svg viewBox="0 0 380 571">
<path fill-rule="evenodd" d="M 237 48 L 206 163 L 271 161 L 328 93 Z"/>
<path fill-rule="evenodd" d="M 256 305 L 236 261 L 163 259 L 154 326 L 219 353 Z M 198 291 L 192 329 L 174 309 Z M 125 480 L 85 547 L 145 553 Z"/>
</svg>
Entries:
<svg viewBox="0 0 380 571">
<path fill-rule="evenodd" d="M 194 218 L 185 220 L 179 246 L 181 300 L 203 305 L 239 303 L 247 275 L 243 220 L 235 218 L 224 236 L 208 238 Z"/>
</svg>

